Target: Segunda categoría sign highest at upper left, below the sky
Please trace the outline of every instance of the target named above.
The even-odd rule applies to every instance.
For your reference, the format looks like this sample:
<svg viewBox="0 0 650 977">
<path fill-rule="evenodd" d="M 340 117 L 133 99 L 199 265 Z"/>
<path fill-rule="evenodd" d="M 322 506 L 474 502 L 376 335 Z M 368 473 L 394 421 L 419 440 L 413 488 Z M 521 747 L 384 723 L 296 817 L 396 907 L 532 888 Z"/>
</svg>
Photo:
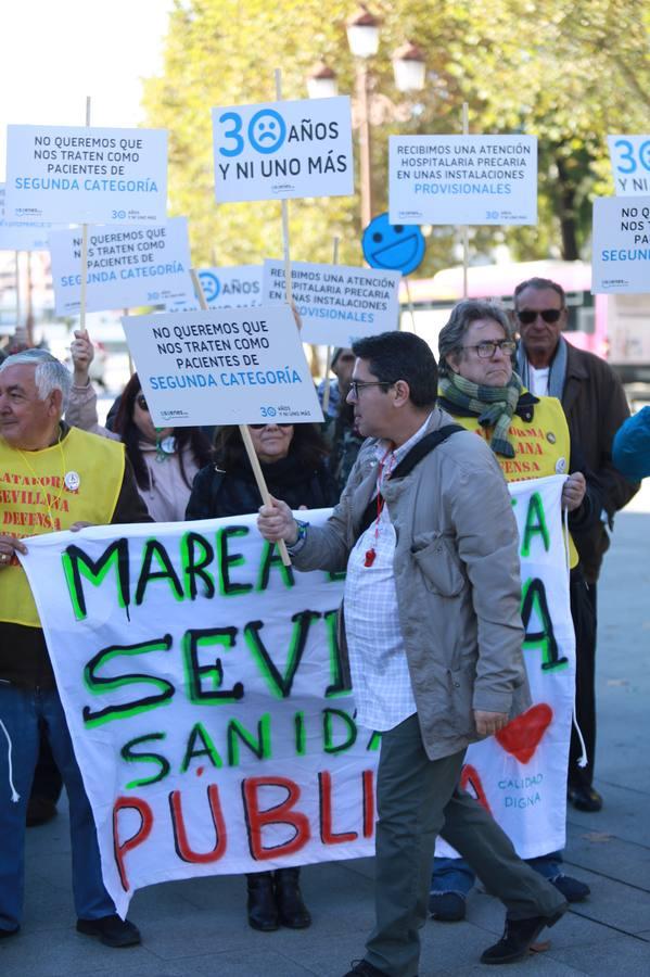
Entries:
<svg viewBox="0 0 650 977">
<path fill-rule="evenodd" d="M 7 127 L 7 214 L 53 224 L 162 224 L 165 129 Z"/>
</svg>

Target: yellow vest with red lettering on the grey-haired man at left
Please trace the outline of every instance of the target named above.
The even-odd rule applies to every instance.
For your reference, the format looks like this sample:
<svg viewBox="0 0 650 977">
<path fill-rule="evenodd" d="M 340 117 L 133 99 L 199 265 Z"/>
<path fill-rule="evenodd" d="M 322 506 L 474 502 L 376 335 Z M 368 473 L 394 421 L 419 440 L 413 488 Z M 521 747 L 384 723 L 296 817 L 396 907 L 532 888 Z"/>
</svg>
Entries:
<svg viewBox="0 0 650 977">
<path fill-rule="evenodd" d="M 110 523 L 124 466 L 123 444 L 78 428 L 41 452 L 20 452 L 0 437 L 0 533 L 25 538 L 75 522 Z M 20 564 L 0 571 L 0 621 L 41 626 Z"/>
</svg>

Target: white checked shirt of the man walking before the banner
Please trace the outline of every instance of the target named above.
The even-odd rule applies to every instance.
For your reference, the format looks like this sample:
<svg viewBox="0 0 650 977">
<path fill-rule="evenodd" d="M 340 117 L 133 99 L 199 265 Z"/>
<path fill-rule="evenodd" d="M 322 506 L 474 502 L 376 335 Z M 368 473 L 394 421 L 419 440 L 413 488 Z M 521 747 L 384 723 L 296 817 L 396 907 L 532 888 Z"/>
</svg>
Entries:
<svg viewBox="0 0 650 977">
<path fill-rule="evenodd" d="M 385 442 L 378 445 L 378 460 L 383 458 L 382 482 L 424 436 L 429 420 L 394 452 Z M 378 482 L 379 478 L 378 470 Z M 356 721 L 379 732 L 393 729 L 417 711 L 399 626 L 393 571 L 395 542 L 388 507 L 384 506 L 379 522 L 375 519 L 357 540 L 345 579 L 345 636 Z M 369 549 L 375 555 L 372 564 L 366 567 Z"/>
</svg>

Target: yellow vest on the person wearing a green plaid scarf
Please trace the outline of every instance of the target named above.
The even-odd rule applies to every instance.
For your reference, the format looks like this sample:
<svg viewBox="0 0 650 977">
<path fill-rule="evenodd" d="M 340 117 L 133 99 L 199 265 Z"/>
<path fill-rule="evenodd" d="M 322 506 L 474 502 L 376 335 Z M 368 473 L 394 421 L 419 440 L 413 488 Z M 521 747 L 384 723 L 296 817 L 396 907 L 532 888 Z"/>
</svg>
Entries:
<svg viewBox="0 0 650 977">
<path fill-rule="evenodd" d="M 533 406 L 533 420 L 524 421 L 515 414 L 508 429 L 514 458 L 495 454 L 507 482 L 569 473 L 571 437 L 562 405 L 557 397 L 539 397 L 539 403 Z M 448 406 L 446 409 L 451 413 Z M 494 428 L 482 428 L 475 417 L 455 417 L 455 420 L 468 431 L 475 431 L 489 444 Z M 569 557 L 570 566 L 576 567 L 578 555 L 571 536 Z"/>
</svg>

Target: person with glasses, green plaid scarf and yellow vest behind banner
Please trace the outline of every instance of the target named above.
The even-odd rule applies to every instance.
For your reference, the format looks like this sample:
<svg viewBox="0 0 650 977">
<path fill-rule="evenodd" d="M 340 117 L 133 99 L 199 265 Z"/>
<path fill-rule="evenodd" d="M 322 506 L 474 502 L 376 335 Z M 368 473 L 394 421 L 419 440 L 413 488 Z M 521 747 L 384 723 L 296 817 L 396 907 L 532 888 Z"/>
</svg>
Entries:
<svg viewBox="0 0 650 977">
<path fill-rule="evenodd" d="M 438 337 L 438 404 L 458 423 L 487 441 L 507 481 L 566 473 L 562 507 L 569 512 L 569 526 L 572 533 L 587 530 L 601 510 L 598 486 L 575 470 L 576 445 L 571 444 L 560 402 L 556 397 L 533 396 L 513 372 L 515 346 L 512 326 L 499 305 L 471 300 L 459 302 Z M 480 486 L 476 504 L 480 505 Z M 594 621 L 571 540 L 570 562 L 571 612 L 576 655 L 579 655 L 581 643 L 589 640 L 594 633 Z M 557 803 L 564 800 L 559 797 Z M 562 873 L 560 852 L 530 861 L 569 902 L 579 902 L 589 894 L 588 886 Z M 444 922 L 464 918 L 466 896 L 473 883 L 474 873 L 467 862 L 436 858 L 429 902 L 433 918 Z"/>
</svg>

